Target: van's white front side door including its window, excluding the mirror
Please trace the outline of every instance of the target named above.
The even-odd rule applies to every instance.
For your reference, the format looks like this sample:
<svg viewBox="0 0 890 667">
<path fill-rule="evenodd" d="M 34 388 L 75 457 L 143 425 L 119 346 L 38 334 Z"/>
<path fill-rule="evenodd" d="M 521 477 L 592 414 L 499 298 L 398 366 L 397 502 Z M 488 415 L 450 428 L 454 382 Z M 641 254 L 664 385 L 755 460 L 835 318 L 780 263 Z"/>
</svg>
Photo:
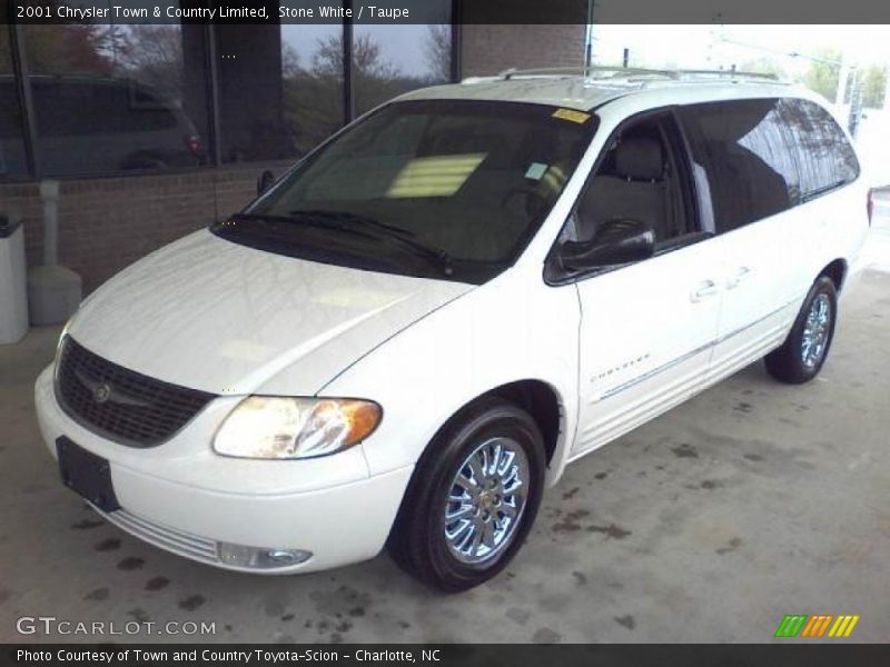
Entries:
<svg viewBox="0 0 890 667">
<path fill-rule="evenodd" d="M 673 112 L 622 127 L 578 200 L 567 233 L 596 239 L 609 220 L 655 231 L 655 255 L 577 280 L 580 416 L 573 456 L 690 397 L 718 336 L 724 243 L 693 182 Z M 702 203 L 710 207 L 705 198 Z M 565 240 L 565 239 L 564 239 Z"/>
</svg>

